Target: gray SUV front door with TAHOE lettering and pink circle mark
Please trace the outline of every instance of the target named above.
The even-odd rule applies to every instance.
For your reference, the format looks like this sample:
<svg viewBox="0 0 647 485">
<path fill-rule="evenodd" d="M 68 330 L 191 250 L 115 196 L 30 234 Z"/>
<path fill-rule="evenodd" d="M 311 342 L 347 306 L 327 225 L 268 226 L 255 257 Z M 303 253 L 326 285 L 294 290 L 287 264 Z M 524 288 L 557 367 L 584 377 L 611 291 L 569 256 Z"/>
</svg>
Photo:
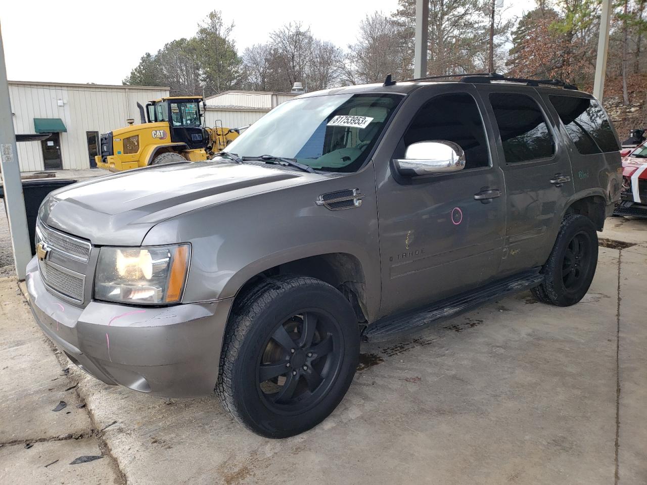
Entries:
<svg viewBox="0 0 647 485">
<path fill-rule="evenodd" d="M 389 160 L 384 160 L 384 173 L 375 160 L 380 316 L 422 307 L 494 279 L 505 234 L 503 174 L 492 163 L 494 145 L 490 146 L 474 87 L 466 85 L 461 92 L 439 85 L 419 89 L 408 97 L 392 126 L 398 124 L 404 129 L 396 135 L 393 158 L 403 158 L 406 147 L 415 142 L 446 140 L 463 148 L 466 166 L 453 173 L 398 180 Z M 498 197 L 475 199 L 483 193 Z"/>
</svg>

